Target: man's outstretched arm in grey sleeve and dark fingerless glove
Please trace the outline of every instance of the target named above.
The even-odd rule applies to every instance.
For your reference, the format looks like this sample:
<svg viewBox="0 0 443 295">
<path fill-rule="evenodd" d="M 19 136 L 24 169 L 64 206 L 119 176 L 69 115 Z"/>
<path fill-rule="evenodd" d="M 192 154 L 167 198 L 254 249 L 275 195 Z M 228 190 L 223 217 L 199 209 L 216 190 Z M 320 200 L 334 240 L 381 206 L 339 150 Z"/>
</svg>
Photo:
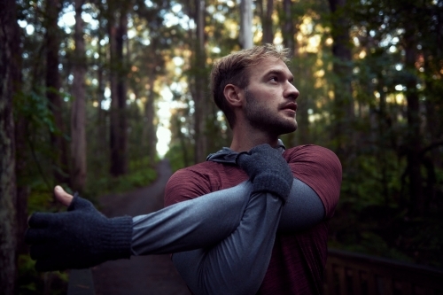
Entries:
<svg viewBox="0 0 443 295">
<path fill-rule="evenodd" d="M 133 223 L 130 225 L 125 223 L 126 227 L 124 228 L 127 233 L 133 232 L 132 237 L 129 240 L 123 239 L 123 241 L 113 244 L 131 245 L 132 250 L 129 249 L 129 251 L 132 255 L 182 252 L 214 245 L 237 229 L 249 201 L 249 198 L 245 196 L 250 195 L 251 187 L 251 182 L 243 182 L 234 188 L 216 191 L 203 198 L 168 206 L 155 213 L 136 216 Z M 69 206 L 73 197 L 61 188 L 58 187 L 58 189 L 55 190 L 56 198 L 62 204 Z M 77 199 L 81 203 L 85 201 L 80 197 Z M 73 253 L 64 250 L 66 247 L 71 249 L 72 245 L 76 245 L 76 242 L 73 242 L 74 238 L 79 238 L 82 243 L 89 242 L 89 239 L 81 236 L 84 232 L 88 233 L 94 230 L 91 223 L 84 222 L 83 217 L 74 217 L 74 214 L 82 214 L 82 211 L 77 212 L 76 210 L 79 209 L 72 206 L 72 210 L 68 211 L 75 221 L 67 221 L 66 218 L 70 218 L 66 216 L 66 213 L 36 213 L 31 217 L 30 229 L 27 230 L 27 242 L 31 244 L 31 256 L 37 260 L 36 268 L 38 270 L 88 268 L 104 261 L 88 260 L 88 251 L 73 255 Z M 95 214 L 100 219 L 105 218 L 101 213 Z M 38 216 L 39 221 L 33 220 L 35 216 Z M 127 216 L 126 219 L 128 218 Z M 290 197 L 283 209 L 279 229 L 291 231 L 304 229 L 322 219 L 323 205 L 318 196 L 306 184 L 295 179 Z M 72 229 L 69 228 L 70 224 L 74 225 Z M 52 228 L 56 228 L 56 230 L 52 230 Z M 95 236 L 101 237 L 100 235 Z M 116 237 L 120 236 L 113 235 L 113 238 Z M 103 240 L 100 243 L 106 245 L 109 241 Z M 100 243 L 96 241 L 93 245 L 81 245 L 80 247 L 83 250 L 87 247 L 95 248 Z M 54 247 L 54 251 L 51 250 L 52 247 Z M 44 249 L 49 251 L 44 251 Z M 97 252 L 98 249 L 90 251 Z M 105 260 L 120 258 L 128 258 L 128 255 L 122 257 L 120 253 L 116 253 L 113 256 L 108 251 Z"/>
</svg>

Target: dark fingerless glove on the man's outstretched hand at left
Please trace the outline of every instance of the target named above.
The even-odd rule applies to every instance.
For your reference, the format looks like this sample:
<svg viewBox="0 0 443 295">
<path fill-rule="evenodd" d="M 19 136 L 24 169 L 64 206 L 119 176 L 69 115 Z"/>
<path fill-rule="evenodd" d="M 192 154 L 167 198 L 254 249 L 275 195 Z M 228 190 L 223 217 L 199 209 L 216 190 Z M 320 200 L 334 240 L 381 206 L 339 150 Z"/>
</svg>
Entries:
<svg viewBox="0 0 443 295">
<path fill-rule="evenodd" d="M 28 224 L 25 241 L 37 271 L 90 268 L 131 255 L 132 218 L 107 218 L 77 194 L 67 212 L 34 213 Z"/>
</svg>

